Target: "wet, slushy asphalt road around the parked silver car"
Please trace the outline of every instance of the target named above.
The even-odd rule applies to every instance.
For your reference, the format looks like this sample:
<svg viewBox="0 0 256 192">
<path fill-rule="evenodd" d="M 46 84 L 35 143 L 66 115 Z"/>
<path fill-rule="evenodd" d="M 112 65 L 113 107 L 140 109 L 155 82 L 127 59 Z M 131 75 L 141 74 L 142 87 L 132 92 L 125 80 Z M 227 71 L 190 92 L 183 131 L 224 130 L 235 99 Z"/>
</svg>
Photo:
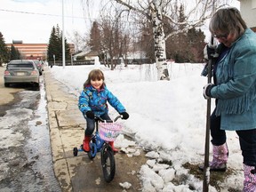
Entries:
<svg viewBox="0 0 256 192">
<path fill-rule="evenodd" d="M 61 191 L 53 172 L 44 77 L 40 91 L 4 87 L 0 67 L 0 192 Z"/>
</svg>

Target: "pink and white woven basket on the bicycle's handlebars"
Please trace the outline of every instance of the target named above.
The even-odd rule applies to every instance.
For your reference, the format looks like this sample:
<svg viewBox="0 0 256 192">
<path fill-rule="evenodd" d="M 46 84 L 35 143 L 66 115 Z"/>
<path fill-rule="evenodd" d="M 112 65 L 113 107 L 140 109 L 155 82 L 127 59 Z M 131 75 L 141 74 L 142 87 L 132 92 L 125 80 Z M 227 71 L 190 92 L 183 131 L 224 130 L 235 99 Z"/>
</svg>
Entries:
<svg viewBox="0 0 256 192">
<path fill-rule="evenodd" d="M 118 123 L 99 123 L 100 138 L 106 141 L 114 141 L 121 132 L 122 126 Z"/>
</svg>

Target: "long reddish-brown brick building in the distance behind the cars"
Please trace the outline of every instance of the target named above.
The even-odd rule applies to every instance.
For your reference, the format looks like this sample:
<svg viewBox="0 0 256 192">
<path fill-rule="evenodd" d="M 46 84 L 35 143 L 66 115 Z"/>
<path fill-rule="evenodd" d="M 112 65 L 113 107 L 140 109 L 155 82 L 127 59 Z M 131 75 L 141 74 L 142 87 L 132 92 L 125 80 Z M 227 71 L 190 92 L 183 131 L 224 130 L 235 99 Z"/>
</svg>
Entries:
<svg viewBox="0 0 256 192">
<path fill-rule="evenodd" d="M 12 41 L 12 44 L 6 44 L 11 49 L 12 45 L 19 50 L 22 59 L 28 60 L 46 60 L 48 44 L 23 44 L 22 41 Z M 74 54 L 75 45 L 68 44 L 70 54 Z"/>
</svg>

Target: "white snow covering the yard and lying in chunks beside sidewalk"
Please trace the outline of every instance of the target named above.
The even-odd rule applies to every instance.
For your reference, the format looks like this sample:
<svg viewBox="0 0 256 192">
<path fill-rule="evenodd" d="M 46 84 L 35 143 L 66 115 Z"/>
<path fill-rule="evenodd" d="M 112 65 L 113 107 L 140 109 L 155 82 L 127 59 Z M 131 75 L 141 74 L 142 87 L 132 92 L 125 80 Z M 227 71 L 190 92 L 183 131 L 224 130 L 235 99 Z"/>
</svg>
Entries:
<svg viewBox="0 0 256 192">
<path fill-rule="evenodd" d="M 93 68 L 103 71 L 108 90 L 116 95 L 130 115 L 129 119 L 120 121 L 123 130 L 115 141 L 116 148 L 131 145 L 131 141 L 124 139 L 125 133 L 149 151 L 147 164 L 140 168 L 142 191 L 192 192 L 189 186 L 196 188 L 193 191 L 203 191 L 203 181 L 196 179 L 182 164 L 204 164 L 207 101 L 203 86 L 207 78 L 200 76 L 204 64 L 168 63 L 170 81 L 156 81 L 154 65 L 129 65 L 127 68 L 121 65 L 115 70 L 99 65 L 53 66 L 50 72 L 66 84 L 68 92 L 78 100 Z M 109 116 L 117 115 L 116 110 L 109 107 Z M 227 132 L 227 138 L 231 174 L 220 182 L 220 191 L 228 192 L 228 188 L 242 191 L 244 173 L 239 140 L 236 132 Z M 161 160 L 172 161 L 172 166 L 159 164 Z M 209 191 L 217 190 L 210 186 Z"/>
</svg>

